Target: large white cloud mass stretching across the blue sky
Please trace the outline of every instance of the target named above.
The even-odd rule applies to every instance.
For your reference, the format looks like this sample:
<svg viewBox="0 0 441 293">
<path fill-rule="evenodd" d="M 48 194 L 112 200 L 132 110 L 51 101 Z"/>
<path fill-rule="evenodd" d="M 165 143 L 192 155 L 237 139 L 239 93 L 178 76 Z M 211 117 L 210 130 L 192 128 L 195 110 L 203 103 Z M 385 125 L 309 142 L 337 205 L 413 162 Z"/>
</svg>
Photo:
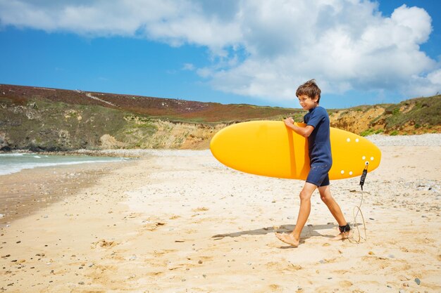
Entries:
<svg viewBox="0 0 441 293">
<path fill-rule="evenodd" d="M 441 88 L 440 63 L 420 50 L 430 15 L 406 5 L 385 17 L 361 0 L 0 0 L 0 24 L 206 46 L 212 66 L 183 69 L 245 96 L 292 98 L 311 78 L 326 93 Z"/>
</svg>

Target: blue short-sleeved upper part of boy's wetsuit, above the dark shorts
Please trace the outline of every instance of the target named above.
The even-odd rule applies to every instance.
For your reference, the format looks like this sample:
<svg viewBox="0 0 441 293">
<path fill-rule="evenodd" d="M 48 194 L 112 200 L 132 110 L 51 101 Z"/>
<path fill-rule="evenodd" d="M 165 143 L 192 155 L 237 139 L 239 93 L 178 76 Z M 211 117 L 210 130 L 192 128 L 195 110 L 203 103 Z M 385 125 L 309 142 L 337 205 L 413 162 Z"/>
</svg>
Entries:
<svg viewBox="0 0 441 293">
<path fill-rule="evenodd" d="M 333 158 L 330 149 L 330 122 L 325 108 L 317 106 L 310 109 L 304 116 L 306 125 L 313 126 L 314 130 L 308 137 L 309 159 L 313 164 L 326 164 L 331 167 Z"/>
</svg>

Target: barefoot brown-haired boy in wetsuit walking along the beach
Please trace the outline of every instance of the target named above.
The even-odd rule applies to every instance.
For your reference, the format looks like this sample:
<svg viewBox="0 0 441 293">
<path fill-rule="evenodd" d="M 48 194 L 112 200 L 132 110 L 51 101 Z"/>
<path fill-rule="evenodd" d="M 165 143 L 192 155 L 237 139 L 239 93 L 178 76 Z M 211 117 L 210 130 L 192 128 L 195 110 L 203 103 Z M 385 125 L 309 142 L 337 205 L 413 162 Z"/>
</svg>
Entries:
<svg viewBox="0 0 441 293">
<path fill-rule="evenodd" d="M 316 188 L 318 188 L 321 200 L 326 204 L 339 225 L 340 234 L 334 239 L 342 240 L 349 237 L 349 230 L 351 230 L 349 224 L 344 219 L 342 210 L 330 193 L 328 171 L 333 164 L 329 138 L 330 122 L 326 110 L 318 105 L 320 94 L 321 90 L 314 79 L 299 86 L 296 96 L 299 98 L 302 108 L 309 111 L 304 116 L 306 127 L 294 125 L 294 120 L 291 117 L 285 119 L 287 127 L 297 134 L 308 138 L 311 165 L 308 178 L 306 178 L 304 187 L 300 192 L 299 216 L 297 217 L 294 230 L 290 234 L 275 233 L 275 236 L 282 242 L 294 247 L 299 245 L 300 234 L 311 211 L 311 195 Z"/>
</svg>

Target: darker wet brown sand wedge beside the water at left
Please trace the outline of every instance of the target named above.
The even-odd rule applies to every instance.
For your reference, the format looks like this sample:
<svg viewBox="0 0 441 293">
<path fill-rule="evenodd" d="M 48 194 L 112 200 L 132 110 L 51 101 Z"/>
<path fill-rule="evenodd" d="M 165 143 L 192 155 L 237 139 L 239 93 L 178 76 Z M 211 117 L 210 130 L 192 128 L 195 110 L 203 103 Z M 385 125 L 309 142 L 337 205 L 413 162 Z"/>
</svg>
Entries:
<svg viewBox="0 0 441 293">
<path fill-rule="evenodd" d="M 130 161 L 35 167 L 0 175 L 0 214 L 3 215 L 0 226 L 75 195 L 128 163 Z"/>
</svg>

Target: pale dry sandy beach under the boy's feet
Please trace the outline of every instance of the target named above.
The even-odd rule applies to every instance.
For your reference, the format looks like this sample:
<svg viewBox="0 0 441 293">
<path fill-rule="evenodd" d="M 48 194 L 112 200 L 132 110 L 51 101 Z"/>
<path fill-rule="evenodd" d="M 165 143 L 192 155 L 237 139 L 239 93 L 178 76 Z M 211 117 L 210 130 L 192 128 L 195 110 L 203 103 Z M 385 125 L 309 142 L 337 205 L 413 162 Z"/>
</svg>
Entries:
<svg viewBox="0 0 441 293">
<path fill-rule="evenodd" d="M 358 233 L 331 240 L 337 225 L 315 193 L 297 248 L 274 232 L 294 227 L 302 181 L 243 174 L 209 151 L 145 151 L 71 192 L 51 188 L 50 204 L 31 201 L 25 215 L 6 214 L 0 288 L 441 292 L 441 145 L 412 146 L 414 139 L 378 141 L 383 161 L 364 185 L 360 243 Z M 331 190 L 354 222 L 359 178 L 333 181 Z"/>
</svg>

